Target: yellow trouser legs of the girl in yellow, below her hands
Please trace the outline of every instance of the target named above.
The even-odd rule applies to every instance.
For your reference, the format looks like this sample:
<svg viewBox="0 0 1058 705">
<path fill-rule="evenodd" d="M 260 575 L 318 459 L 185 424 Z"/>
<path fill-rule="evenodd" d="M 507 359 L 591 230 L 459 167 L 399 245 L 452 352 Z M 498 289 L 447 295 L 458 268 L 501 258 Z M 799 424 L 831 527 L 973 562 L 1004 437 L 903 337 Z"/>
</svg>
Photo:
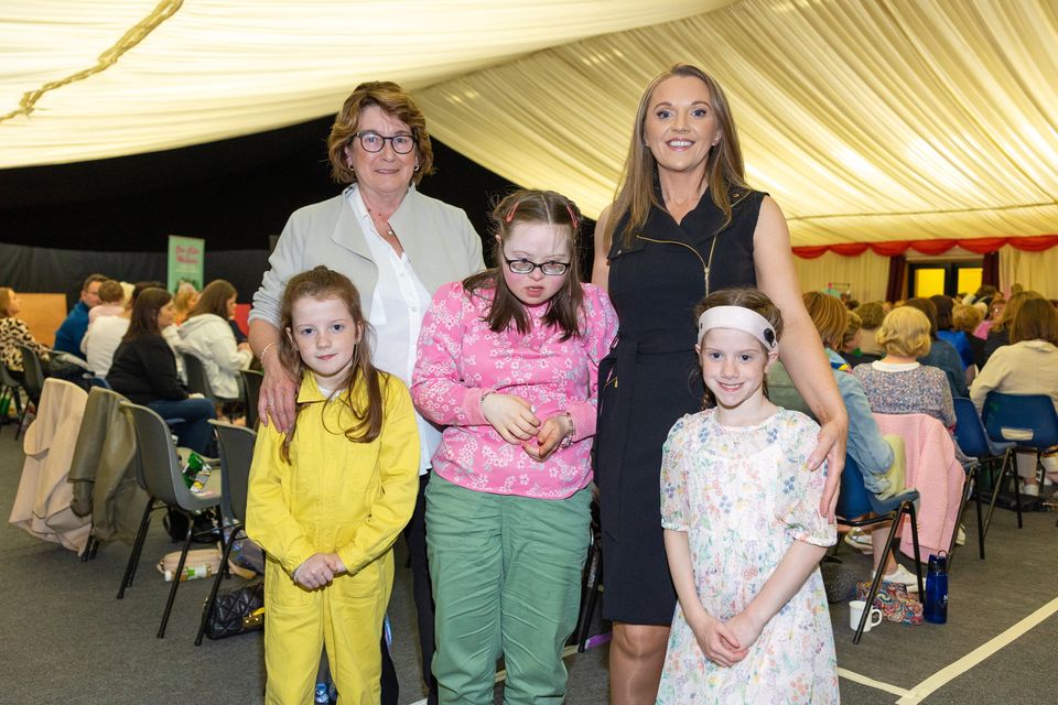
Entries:
<svg viewBox="0 0 1058 705">
<path fill-rule="evenodd" d="M 312 702 L 324 644 L 343 703 L 378 705 L 381 654 L 378 642 L 393 585 L 393 552 L 356 575 L 306 590 L 274 558 L 264 571 L 264 666 L 268 705 Z"/>
</svg>

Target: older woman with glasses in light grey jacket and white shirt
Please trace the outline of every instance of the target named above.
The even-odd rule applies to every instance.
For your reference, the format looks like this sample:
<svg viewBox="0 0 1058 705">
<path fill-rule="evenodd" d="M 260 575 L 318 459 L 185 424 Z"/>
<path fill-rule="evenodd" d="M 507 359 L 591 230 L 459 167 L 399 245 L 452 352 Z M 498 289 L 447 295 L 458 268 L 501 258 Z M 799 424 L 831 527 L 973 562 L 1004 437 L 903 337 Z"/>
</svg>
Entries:
<svg viewBox="0 0 1058 705">
<path fill-rule="evenodd" d="M 417 188 L 433 172 L 433 148 L 425 118 L 403 88 L 388 82 L 357 86 L 335 117 L 327 153 L 334 180 L 348 186 L 291 215 L 250 313 L 250 345 L 264 370 L 260 417 L 283 431 L 293 423 L 298 390 L 298 382 L 277 359 L 276 344 L 282 334 L 279 305 L 287 280 L 319 264 L 353 280 L 375 329 L 373 362 L 408 383 L 419 329 L 433 294 L 442 284 L 485 268 L 482 240 L 466 214 Z M 433 608 L 423 491 L 441 433 L 421 416 L 417 421 L 419 501 L 404 535 L 419 611 L 422 675 L 432 684 Z M 431 702 L 436 697 L 434 687 Z"/>
</svg>

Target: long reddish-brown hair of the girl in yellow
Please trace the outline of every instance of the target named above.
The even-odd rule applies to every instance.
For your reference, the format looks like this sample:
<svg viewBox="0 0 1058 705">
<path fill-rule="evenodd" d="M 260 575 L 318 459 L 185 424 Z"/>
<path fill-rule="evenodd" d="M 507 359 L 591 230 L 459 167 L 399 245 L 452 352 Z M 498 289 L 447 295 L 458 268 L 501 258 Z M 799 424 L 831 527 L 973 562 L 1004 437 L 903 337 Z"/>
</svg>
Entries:
<svg viewBox="0 0 1058 705">
<path fill-rule="evenodd" d="M 293 329 L 294 304 L 305 297 L 316 301 L 337 299 L 345 304 L 353 324 L 360 329 L 360 341 L 353 352 L 353 364 L 349 366 L 348 375 L 342 381 L 345 391 L 335 394 L 335 403 L 343 404 L 353 416 L 353 423 L 339 432 L 353 443 L 370 443 L 382 431 L 382 387 L 388 382 L 389 376 L 375 369 L 375 366 L 371 365 L 370 324 L 364 317 L 364 310 L 360 307 L 360 294 L 347 276 L 323 265 L 295 274 L 287 282 L 280 310 L 280 329 L 282 333 L 280 333 L 277 347 L 279 348 L 279 361 L 283 369 L 298 380 L 302 378 L 309 367 L 301 359 L 298 347 L 291 337 L 291 332 Z M 364 381 L 367 395 L 367 401 L 364 403 L 359 402 L 355 393 L 355 387 L 360 380 Z M 298 415 L 303 408 L 304 404 L 296 405 L 294 423 L 283 438 L 280 455 L 287 463 L 290 463 L 290 444 L 294 438 Z M 324 421 L 324 424 L 326 424 L 326 421 Z M 324 427 L 326 429 L 326 425 Z M 331 432 L 330 429 L 326 430 Z"/>
</svg>

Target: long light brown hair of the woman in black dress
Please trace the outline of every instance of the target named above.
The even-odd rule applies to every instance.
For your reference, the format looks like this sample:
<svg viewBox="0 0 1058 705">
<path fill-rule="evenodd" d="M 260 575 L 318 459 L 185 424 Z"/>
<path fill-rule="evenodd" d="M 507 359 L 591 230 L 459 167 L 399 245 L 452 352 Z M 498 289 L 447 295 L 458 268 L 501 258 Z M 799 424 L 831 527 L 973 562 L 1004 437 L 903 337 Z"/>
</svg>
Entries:
<svg viewBox="0 0 1058 705">
<path fill-rule="evenodd" d="M 673 76 L 698 78 L 709 88 L 710 105 L 716 116 L 721 137 L 720 142 L 710 150 L 709 156 L 705 158 L 704 178 L 709 184 L 713 203 L 724 214 L 721 230 L 731 224 L 732 191 L 741 191 L 743 195 L 749 191 L 749 186 L 746 184 L 742 147 L 738 144 L 738 132 L 735 129 L 735 120 L 731 115 L 727 97 L 723 89 L 712 76 L 698 66 L 676 64 L 672 68 L 658 74 L 639 98 L 628 156 L 625 160 L 625 166 L 618 182 L 617 197 L 614 199 L 609 219 L 606 224 L 608 231 L 605 232 L 605 239 L 600 241 L 612 242 L 614 237 L 622 237 L 626 242 L 629 241 L 633 230 L 637 230 L 646 224 L 651 206 L 665 207 L 665 204 L 658 202 L 655 193 L 658 163 L 654 159 L 650 148 L 646 145 L 646 120 L 654 91 L 661 82 Z M 617 223 L 625 215 L 628 215 L 628 224 L 622 232 L 617 234 L 615 232 Z"/>
</svg>

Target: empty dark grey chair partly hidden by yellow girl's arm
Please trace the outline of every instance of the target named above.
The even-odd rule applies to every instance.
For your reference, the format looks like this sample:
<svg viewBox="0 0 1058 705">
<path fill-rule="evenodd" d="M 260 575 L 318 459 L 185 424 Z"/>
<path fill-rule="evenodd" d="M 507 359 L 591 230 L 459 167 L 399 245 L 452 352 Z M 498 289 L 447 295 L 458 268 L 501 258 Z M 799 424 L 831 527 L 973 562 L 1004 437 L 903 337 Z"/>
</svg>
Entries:
<svg viewBox="0 0 1058 705">
<path fill-rule="evenodd" d="M 220 589 L 220 579 L 227 573 L 228 557 L 231 546 L 239 536 L 246 536 L 246 499 L 249 495 L 250 464 L 253 460 L 253 444 L 257 432 L 242 426 L 236 426 L 219 421 L 209 420 L 217 432 L 217 445 L 220 447 L 220 516 L 224 523 L 230 527 L 230 533 L 224 543 L 224 555 L 220 556 L 220 570 L 213 581 L 213 589 L 202 610 L 202 621 L 198 623 L 198 634 L 195 646 L 202 643 L 206 631 L 206 622 L 217 604 L 217 592 Z"/>
</svg>

